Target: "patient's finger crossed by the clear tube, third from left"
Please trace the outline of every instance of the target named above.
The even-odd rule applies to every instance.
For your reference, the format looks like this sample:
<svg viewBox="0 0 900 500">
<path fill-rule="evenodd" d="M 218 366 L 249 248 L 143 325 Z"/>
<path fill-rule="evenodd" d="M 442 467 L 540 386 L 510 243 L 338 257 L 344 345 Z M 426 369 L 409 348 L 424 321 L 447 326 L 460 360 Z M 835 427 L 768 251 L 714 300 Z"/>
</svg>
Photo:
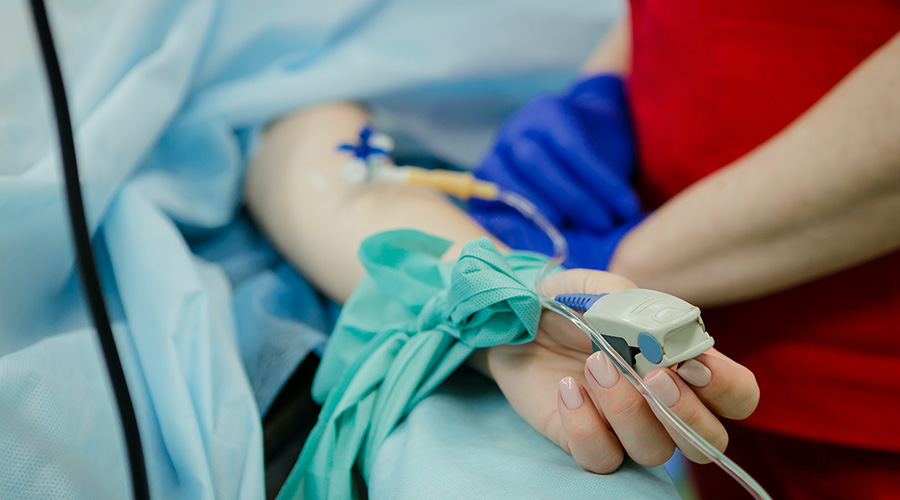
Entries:
<svg viewBox="0 0 900 500">
<path fill-rule="evenodd" d="M 728 446 L 728 432 L 725 427 L 675 372 L 668 368 L 654 370 L 644 377 L 644 382 L 657 399 L 668 406 L 688 427 L 703 436 L 717 450 L 725 451 L 725 447 Z M 660 420 L 663 421 L 662 418 Z M 687 440 L 668 424 L 664 425 L 685 457 L 697 463 L 709 462 L 705 455 L 688 444 Z"/>
</svg>

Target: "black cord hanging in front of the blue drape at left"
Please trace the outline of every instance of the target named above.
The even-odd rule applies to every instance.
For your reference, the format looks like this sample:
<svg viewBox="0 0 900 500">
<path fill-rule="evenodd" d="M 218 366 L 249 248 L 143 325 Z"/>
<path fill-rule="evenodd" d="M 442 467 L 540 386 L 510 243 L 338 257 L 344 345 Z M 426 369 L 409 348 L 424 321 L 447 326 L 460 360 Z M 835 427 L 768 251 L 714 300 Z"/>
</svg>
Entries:
<svg viewBox="0 0 900 500">
<path fill-rule="evenodd" d="M 62 155 L 62 168 L 66 182 L 66 198 L 69 204 L 69 217 L 75 238 L 75 249 L 78 253 L 81 281 L 87 296 L 91 316 L 94 319 L 94 326 L 97 328 L 97 337 L 100 340 L 100 347 L 106 360 L 106 368 L 109 370 L 109 378 L 112 382 L 116 404 L 119 407 L 119 418 L 122 421 L 125 445 L 128 449 L 128 462 L 131 466 L 131 486 L 134 491 L 134 498 L 135 500 L 150 500 L 141 435 L 137 425 L 137 418 L 134 414 L 131 395 L 128 393 L 125 372 L 122 370 L 122 361 L 119 359 L 119 352 L 116 349 L 116 340 L 113 337 L 112 327 L 109 324 L 109 314 L 103 301 L 103 289 L 100 287 L 100 278 L 97 274 L 96 262 L 94 261 L 94 251 L 91 247 L 91 237 L 88 232 L 87 221 L 85 220 L 84 202 L 82 201 L 81 184 L 78 178 L 78 163 L 75 158 L 75 137 L 72 135 L 72 121 L 69 118 L 66 89 L 63 83 L 62 72 L 59 69 L 56 47 L 53 45 L 50 22 L 47 19 L 47 9 L 44 7 L 43 0 L 31 0 L 31 11 L 34 15 L 34 24 L 41 44 L 41 53 L 44 56 L 47 79 L 50 82 L 53 108 L 56 112 L 56 128 L 59 134 L 59 149 Z"/>
</svg>

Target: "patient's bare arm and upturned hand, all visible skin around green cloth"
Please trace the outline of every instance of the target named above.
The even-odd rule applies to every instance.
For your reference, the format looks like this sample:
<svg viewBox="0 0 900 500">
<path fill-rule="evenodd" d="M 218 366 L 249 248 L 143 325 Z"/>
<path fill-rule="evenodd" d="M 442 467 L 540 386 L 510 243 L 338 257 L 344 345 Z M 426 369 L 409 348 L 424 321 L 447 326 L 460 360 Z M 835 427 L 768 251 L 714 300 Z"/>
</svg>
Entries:
<svg viewBox="0 0 900 500">
<path fill-rule="evenodd" d="M 248 206 L 263 230 L 283 255 L 338 301 L 346 300 L 362 279 L 356 249 L 372 234 L 401 227 L 427 231 L 456 242 L 447 259 L 457 256 L 465 242 L 486 235 L 437 193 L 345 183 L 341 166 L 346 157 L 335 152 L 334 144 L 352 141 L 366 120 L 359 107 L 346 103 L 289 116 L 266 132 L 246 180 Z M 309 241 L 316 244 L 306 244 Z M 551 294 L 603 293 L 633 286 L 621 276 L 589 270 L 566 271 L 545 283 Z M 585 469 L 611 472 L 626 452 L 644 465 L 665 462 L 676 440 L 625 379 L 610 388 L 592 385 L 585 371 L 590 354 L 584 334 L 545 313 L 534 342 L 479 351 L 470 364 L 493 378 L 523 419 L 572 453 Z M 734 361 L 713 350 L 703 356 L 710 361 L 712 378 L 702 388 L 688 386 L 675 370 L 665 370 L 679 387 L 672 409 L 724 450 L 727 436 L 717 414 L 746 417 L 756 407 L 759 390 L 752 373 Z M 575 410 L 559 405 L 558 381 L 566 377 L 573 377 L 578 390 L 590 394 L 585 401 L 591 404 Z M 704 460 L 687 447 L 684 451 Z"/>
</svg>

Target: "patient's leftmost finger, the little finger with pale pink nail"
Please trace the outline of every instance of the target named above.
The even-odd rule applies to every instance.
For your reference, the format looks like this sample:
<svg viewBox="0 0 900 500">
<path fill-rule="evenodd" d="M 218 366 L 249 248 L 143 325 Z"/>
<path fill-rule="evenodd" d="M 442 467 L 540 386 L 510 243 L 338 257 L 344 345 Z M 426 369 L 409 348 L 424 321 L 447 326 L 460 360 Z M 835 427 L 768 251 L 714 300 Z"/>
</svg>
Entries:
<svg viewBox="0 0 900 500">
<path fill-rule="evenodd" d="M 622 465 L 622 445 L 609 430 L 584 387 L 572 377 L 559 381 L 559 419 L 566 447 L 581 468 L 608 474 Z"/>
</svg>

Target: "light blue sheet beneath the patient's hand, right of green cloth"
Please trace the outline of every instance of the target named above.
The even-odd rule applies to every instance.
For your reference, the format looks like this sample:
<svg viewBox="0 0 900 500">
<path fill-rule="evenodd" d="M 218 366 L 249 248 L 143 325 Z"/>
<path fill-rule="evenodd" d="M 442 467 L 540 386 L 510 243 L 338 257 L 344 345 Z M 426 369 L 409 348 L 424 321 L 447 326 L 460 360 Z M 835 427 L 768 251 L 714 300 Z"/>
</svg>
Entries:
<svg viewBox="0 0 900 500">
<path fill-rule="evenodd" d="M 662 467 L 626 460 L 615 474 L 586 473 L 485 382 L 463 370 L 413 409 L 378 452 L 371 498 L 680 498 Z"/>
</svg>

